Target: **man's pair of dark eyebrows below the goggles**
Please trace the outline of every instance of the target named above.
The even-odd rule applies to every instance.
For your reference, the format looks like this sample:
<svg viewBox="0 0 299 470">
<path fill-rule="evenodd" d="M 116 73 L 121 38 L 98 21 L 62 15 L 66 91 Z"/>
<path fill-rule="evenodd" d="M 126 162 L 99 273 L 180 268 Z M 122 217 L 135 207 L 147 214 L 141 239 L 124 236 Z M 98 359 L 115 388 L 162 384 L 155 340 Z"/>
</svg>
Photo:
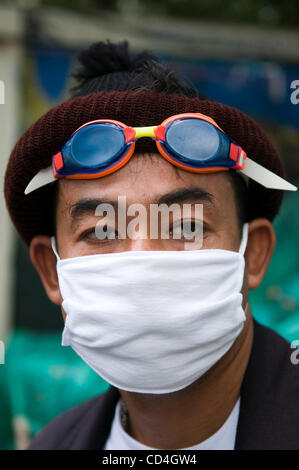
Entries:
<svg viewBox="0 0 299 470">
<path fill-rule="evenodd" d="M 214 204 L 214 196 L 209 193 L 208 191 L 199 188 L 180 188 L 175 189 L 174 191 L 170 191 L 166 194 L 160 196 L 157 200 L 153 201 L 156 204 L 182 204 L 184 202 L 206 202 L 211 206 L 215 206 Z M 110 204 L 114 210 L 117 210 L 118 201 L 113 199 L 106 199 L 106 198 L 85 198 L 80 199 L 79 201 L 71 204 L 69 206 L 69 212 L 72 219 L 72 224 L 77 222 L 79 219 L 88 216 L 94 215 L 96 208 L 100 204 Z"/>
</svg>

